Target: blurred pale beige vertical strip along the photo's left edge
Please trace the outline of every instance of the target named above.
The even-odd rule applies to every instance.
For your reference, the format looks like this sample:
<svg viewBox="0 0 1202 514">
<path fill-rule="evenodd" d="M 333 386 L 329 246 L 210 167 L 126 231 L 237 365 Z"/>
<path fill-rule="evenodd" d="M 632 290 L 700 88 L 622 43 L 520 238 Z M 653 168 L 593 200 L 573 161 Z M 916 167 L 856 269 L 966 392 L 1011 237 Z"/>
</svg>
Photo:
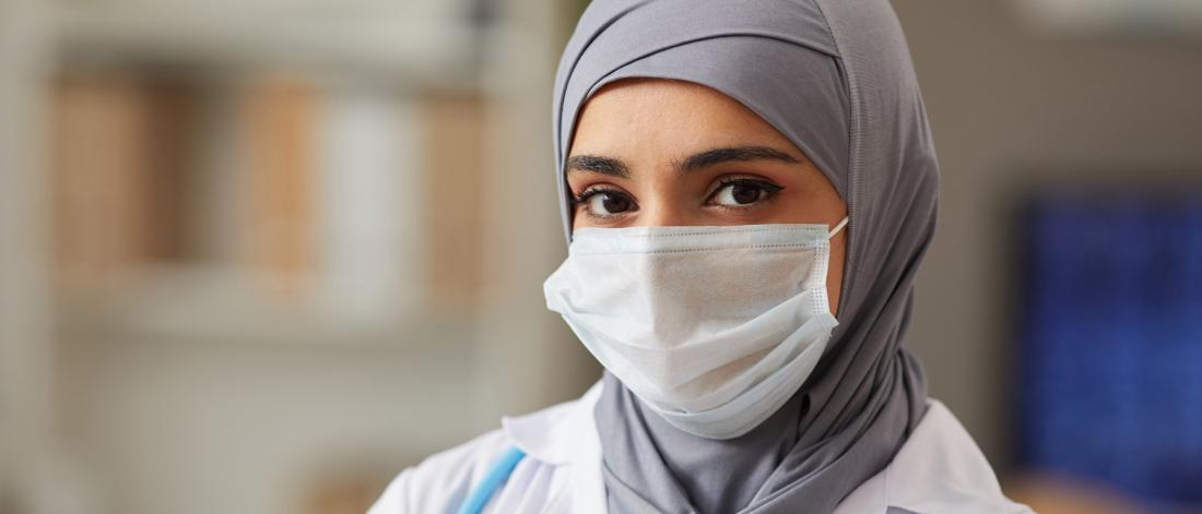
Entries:
<svg viewBox="0 0 1202 514">
<path fill-rule="evenodd" d="M 41 2 L 0 0 L 0 512 L 56 506 L 52 476 L 50 300 L 37 132 L 47 37 Z M 60 503 L 59 503 L 60 504 Z"/>
</svg>

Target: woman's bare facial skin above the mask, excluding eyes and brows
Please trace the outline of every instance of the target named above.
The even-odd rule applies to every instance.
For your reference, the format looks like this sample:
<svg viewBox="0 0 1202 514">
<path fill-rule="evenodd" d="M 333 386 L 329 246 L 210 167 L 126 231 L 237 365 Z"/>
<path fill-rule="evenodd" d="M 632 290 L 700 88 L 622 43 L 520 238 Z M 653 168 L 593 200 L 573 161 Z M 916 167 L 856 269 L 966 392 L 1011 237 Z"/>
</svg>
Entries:
<svg viewBox="0 0 1202 514">
<path fill-rule="evenodd" d="M 698 187 L 676 173 L 673 163 L 694 151 L 724 145 L 790 150 L 789 154 L 798 157 L 802 165 L 793 165 L 791 175 L 776 173 L 774 180 L 785 186 L 781 193 L 792 189 L 790 199 L 766 205 L 762 214 L 722 220 L 698 213 L 696 199 L 680 198 L 680 191 Z M 600 181 L 618 186 L 637 199 L 637 220 L 620 226 L 825 222 L 833 228 L 847 213 L 826 175 L 775 127 L 738 101 L 697 84 L 664 79 L 623 79 L 607 84 L 581 110 L 569 150 L 569 155 L 578 154 L 619 159 L 629 167 L 629 179 L 591 177 L 588 181 L 578 175 L 589 173 L 569 173 L 573 192 Z M 573 228 L 594 225 L 583 213 L 577 213 L 572 220 Z M 835 315 L 850 228 L 844 227 L 831 240 L 827 295 Z"/>
</svg>

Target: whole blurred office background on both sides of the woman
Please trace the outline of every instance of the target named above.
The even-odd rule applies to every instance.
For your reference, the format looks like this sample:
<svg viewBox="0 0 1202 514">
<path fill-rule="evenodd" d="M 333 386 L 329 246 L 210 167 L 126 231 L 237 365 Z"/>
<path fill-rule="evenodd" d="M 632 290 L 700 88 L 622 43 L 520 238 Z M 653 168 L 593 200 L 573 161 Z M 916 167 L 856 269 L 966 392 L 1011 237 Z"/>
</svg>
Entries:
<svg viewBox="0 0 1202 514">
<path fill-rule="evenodd" d="M 932 395 L 1041 513 L 1202 512 L 1202 2 L 893 5 Z M 0 512 L 362 513 L 579 395 L 541 285 L 583 6 L 0 0 Z"/>
</svg>

